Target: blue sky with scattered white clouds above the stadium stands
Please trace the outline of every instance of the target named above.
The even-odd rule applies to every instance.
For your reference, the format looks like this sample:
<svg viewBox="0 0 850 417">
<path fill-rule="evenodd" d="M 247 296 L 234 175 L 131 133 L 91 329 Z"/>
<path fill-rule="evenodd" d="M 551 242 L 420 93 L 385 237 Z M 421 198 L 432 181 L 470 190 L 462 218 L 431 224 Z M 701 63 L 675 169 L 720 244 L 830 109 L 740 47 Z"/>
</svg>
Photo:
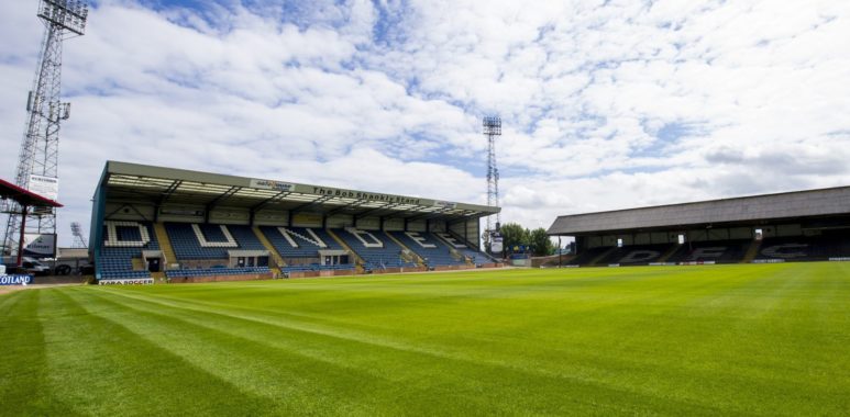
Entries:
<svg viewBox="0 0 850 417">
<path fill-rule="evenodd" d="M 44 27 L 0 2 L 0 178 Z M 102 0 L 67 40 L 58 214 L 107 160 L 486 203 L 503 223 L 850 185 L 850 1 Z"/>
</svg>

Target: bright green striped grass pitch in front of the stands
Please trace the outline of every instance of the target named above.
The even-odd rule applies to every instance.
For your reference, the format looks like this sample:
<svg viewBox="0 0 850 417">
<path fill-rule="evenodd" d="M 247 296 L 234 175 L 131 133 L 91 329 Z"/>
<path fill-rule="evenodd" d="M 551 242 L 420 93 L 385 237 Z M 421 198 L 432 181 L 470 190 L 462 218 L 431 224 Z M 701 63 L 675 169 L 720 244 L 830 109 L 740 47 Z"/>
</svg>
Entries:
<svg viewBox="0 0 850 417">
<path fill-rule="evenodd" d="M 0 415 L 848 415 L 850 263 L 0 296 Z"/>
</svg>

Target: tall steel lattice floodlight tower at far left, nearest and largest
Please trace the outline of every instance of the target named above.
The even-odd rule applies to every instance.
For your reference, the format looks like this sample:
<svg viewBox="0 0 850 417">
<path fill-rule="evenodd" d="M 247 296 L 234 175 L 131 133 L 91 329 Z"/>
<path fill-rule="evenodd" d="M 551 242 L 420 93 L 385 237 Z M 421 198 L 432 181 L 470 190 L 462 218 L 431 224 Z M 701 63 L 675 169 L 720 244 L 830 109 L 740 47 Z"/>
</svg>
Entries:
<svg viewBox="0 0 850 417">
<path fill-rule="evenodd" d="M 44 23 L 44 38 L 35 80 L 26 100 L 26 132 L 21 143 L 15 184 L 51 200 L 56 200 L 58 194 L 59 124 L 70 115 L 70 103 L 59 100 L 62 44 L 67 38 L 82 36 L 88 12 L 88 4 L 81 0 L 38 2 L 37 16 Z M 3 240 L 7 252 L 18 250 L 19 236 L 23 236 L 21 232 L 56 233 L 54 208 L 24 213 L 11 202 L 4 208 L 9 213 Z"/>
</svg>

